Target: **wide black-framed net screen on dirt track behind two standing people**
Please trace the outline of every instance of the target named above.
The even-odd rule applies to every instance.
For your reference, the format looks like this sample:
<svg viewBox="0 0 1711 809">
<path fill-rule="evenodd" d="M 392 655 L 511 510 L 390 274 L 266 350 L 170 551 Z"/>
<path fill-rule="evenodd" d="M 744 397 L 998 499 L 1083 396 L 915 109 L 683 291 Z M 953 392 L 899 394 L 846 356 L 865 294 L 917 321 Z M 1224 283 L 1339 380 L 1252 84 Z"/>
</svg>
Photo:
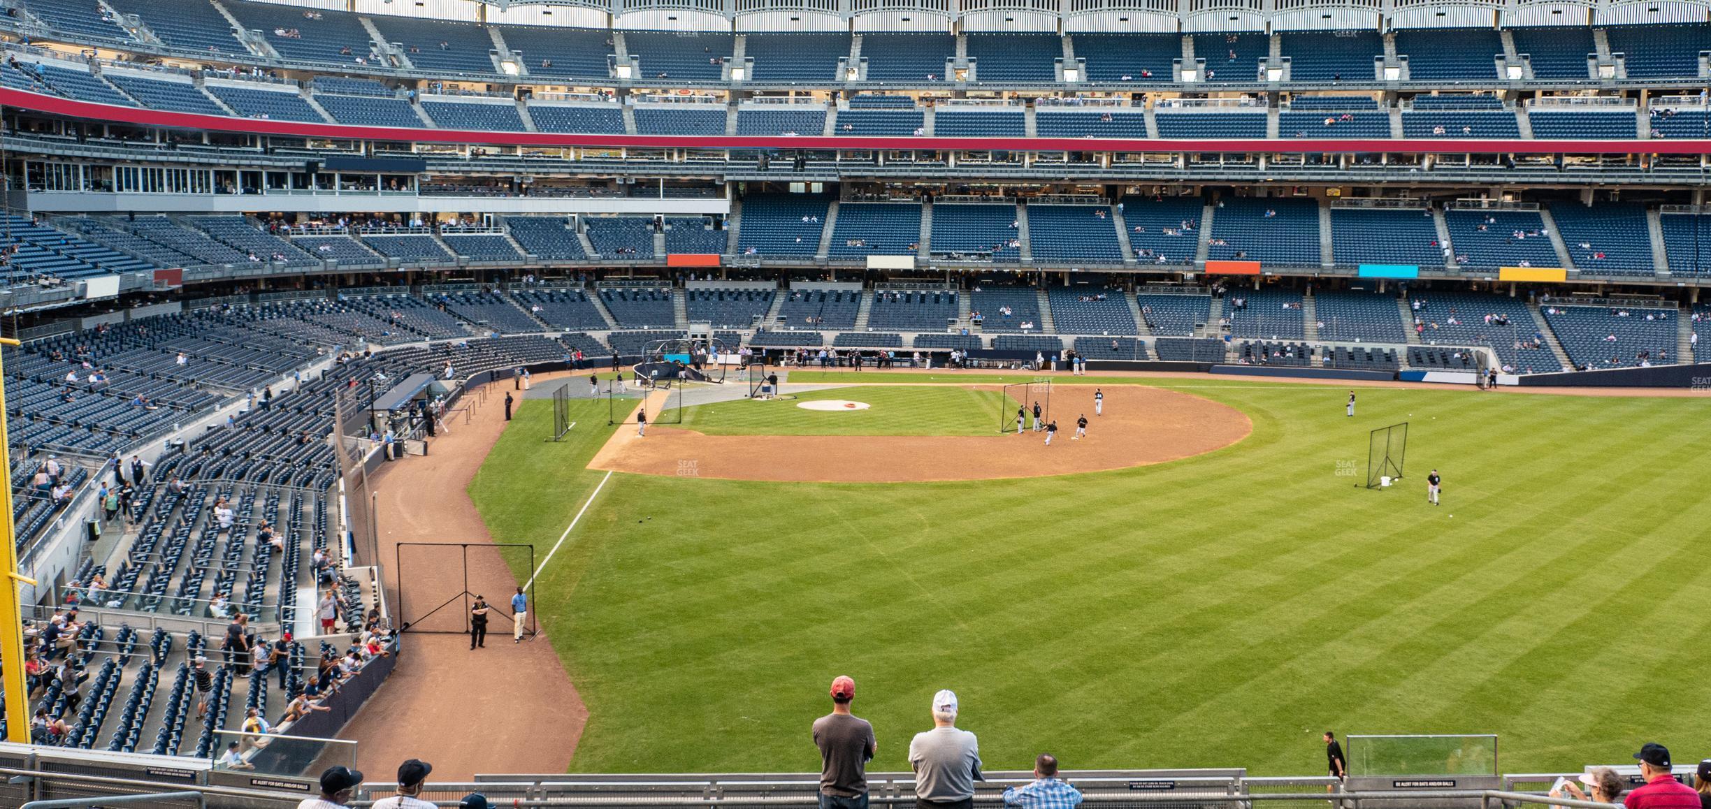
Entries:
<svg viewBox="0 0 1711 809">
<path fill-rule="evenodd" d="M 469 609 L 481 595 L 491 607 L 488 635 L 510 635 L 512 595 L 536 570 L 534 546 L 527 542 L 399 542 L 394 554 L 399 631 L 411 633 L 469 635 Z M 532 583 L 525 595 L 530 609 L 524 636 L 532 638 L 539 633 Z"/>
</svg>

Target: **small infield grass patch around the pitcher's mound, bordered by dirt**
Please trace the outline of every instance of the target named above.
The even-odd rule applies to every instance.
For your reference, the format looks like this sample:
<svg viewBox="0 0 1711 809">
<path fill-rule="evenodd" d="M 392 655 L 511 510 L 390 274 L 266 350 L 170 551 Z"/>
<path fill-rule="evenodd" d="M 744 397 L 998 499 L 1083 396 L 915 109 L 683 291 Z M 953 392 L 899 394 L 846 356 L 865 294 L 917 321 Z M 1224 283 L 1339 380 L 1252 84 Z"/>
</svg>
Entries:
<svg viewBox="0 0 1711 809">
<path fill-rule="evenodd" d="M 796 400 L 737 399 L 683 409 L 683 424 L 720 436 L 991 436 L 999 426 L 996 390 L 862 385 L 794 393 Z M 804 410 L 797 402 L 845 399 L 866 410 Z"/>
</svg>

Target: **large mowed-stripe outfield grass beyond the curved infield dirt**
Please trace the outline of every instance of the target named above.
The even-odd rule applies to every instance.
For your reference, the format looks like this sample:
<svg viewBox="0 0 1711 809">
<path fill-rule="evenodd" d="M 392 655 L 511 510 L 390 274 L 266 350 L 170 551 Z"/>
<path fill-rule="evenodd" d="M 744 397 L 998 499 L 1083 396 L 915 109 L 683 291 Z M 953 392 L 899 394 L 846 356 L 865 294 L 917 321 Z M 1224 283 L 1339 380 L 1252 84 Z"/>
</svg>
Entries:
<svg viewBox="0 0 1711 809">
<path fill-rule="evenodd" d="M 1323 730 L 1495 732 L 1506 771 L 1711 754 L 1702 400 L 1364 388 L 1347 419 L 1333 387 L 1146 383 L 1254 434 L 1021 482 L 614 475 L 539 585 L 590 710 L 571 768 L 814 770 L 835 674 L 876 770 L 907 770 L 939 688 L 989 770 L 1319 773 Z M 1365 491 L 1365 433 L 1396 421 L 1408 479 Z M 544 556 L 606 428 L 539 433 L 513 426 L 471 494 Z"/>
</svg>

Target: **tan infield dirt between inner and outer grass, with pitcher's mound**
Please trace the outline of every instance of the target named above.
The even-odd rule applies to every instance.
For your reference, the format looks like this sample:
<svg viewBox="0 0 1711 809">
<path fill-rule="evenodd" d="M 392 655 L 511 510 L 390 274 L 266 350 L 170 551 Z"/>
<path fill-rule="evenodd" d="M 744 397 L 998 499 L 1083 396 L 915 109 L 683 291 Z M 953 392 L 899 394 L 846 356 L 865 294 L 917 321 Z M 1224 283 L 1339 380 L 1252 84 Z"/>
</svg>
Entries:
<svg viewBox="0 0 1711 809">
<path fill-rule="evenodd" d="M 1073 440 L 1081 414 L 1086 438 Z M 708 436 L 655 428 L 636 438 L 619 429 L 589 467 L 683 475 L 693 462 L 695 477 L 732 481 L 989 481 L 1162 464 L 1220 450 L 1254 429 L 1230 405 L 1143 385 L 1105 388 L 1104 416 L 1093 414 L 1092 385 L 1054 385 L 1052 417 L 1059 431 L 1051 446 L 1045 433 L 998 434 L 998 424 L 992 436 Z"/>
</svg>

